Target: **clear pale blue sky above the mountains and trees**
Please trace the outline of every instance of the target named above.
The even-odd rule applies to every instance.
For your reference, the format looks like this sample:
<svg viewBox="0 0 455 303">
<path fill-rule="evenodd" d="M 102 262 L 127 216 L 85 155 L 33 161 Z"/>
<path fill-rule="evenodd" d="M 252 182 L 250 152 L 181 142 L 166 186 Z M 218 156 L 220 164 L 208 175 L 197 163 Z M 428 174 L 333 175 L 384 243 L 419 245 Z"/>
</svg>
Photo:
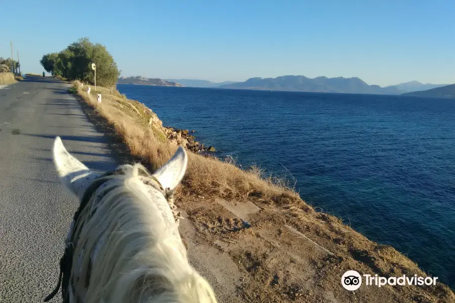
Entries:
<svg viewBox="0 0 455 303">
<path fill-rule="evenodd" d="M 106 45 L 122 76 L 455 83 L 453 0 L 42 3 L 2 4 L 0 56 L 13 40 L 25 72 L 86 36 Z"/>
</svg>

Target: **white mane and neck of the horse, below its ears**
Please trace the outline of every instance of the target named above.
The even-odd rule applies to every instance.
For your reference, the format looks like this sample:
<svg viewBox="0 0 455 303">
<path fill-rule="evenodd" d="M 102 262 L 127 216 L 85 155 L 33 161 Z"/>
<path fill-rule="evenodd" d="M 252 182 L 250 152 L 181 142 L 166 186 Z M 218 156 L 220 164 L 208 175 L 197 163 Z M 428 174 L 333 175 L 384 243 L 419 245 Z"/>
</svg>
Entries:
<svg viewBox="0 0 455 303">
<path fill-rule="evenodd" d="M 78 240 L 70 293 L 86 292 L 81 299 L 87 303 L 216 302 L 188 264 L 180 237 L 166 228 L 153 201 L 164 196 L 157 190 L 151 198 L 140 178 L 146 169 L 121 169 L 124 175 L 111 176 L 90 198 L 73 230 Z"/>
</svg>

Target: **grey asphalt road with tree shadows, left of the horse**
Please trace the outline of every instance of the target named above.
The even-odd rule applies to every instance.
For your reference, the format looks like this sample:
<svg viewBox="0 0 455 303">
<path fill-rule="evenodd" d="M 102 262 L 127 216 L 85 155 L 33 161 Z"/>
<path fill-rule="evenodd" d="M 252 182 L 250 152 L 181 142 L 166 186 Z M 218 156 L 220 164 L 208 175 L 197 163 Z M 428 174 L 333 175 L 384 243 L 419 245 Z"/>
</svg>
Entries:
<svg viewBox="0 0 455 303">
<path fill-rule="evenodd" d="M 77 208 L 58 182 L 51 148 L 60 136 L 90 169 L 115 167 L 108 139 L 68 94 L 69 84 L 27 77 L 0 88 L 0 302 L 42 302 L 56 286 Z M 61 296 L 52 301 L 61 301 Z M 51 302 L 52 302 L 51 301 Z"/>
</svg>

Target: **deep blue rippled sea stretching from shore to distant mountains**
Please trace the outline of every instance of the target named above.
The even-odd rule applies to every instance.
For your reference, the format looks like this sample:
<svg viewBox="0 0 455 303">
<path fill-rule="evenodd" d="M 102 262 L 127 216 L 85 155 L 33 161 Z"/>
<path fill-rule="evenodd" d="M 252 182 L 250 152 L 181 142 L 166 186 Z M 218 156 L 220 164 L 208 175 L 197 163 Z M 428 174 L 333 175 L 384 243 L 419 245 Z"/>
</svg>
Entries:
<svg viewBox="0 0 455 303">
<path fill-rule="evenodd" d="M 455 99 L 119 84 L 455 287 Z"/>
</svg>

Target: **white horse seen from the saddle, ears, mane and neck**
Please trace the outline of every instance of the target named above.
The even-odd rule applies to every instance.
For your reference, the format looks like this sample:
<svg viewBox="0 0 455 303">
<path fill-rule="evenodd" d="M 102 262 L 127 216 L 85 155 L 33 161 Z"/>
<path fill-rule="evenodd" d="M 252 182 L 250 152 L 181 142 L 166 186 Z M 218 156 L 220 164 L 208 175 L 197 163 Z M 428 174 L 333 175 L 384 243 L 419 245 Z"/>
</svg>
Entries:
<svg viewBox="0 0 455 303">
<path fill-rule="evenodd" d="M 216 303 L 207 281 L 188 263 L 172 191 L 188 157 L 179 147 L 153 175 L 140 164 L 99 175 L 56 137 L 54 164 L 79 200 L 61 260 L 64 302 Z"/>
</svg>

